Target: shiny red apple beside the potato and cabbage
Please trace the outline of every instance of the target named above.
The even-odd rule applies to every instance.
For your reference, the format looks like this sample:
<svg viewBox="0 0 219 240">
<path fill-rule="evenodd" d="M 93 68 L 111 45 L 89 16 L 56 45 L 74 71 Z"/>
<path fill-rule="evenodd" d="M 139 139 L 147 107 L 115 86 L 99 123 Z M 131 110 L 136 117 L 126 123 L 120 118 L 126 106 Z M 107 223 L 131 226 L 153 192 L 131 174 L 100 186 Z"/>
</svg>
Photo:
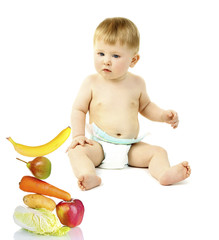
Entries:
<svg viewBox="0 0 219 240">
<path fill-rule="evenodd" d="M 84 205 L 79 199 L 61 201 L 56 205 L 56 214 L 63 225 L 73 228 L 82 222 Z"/>
</svg>

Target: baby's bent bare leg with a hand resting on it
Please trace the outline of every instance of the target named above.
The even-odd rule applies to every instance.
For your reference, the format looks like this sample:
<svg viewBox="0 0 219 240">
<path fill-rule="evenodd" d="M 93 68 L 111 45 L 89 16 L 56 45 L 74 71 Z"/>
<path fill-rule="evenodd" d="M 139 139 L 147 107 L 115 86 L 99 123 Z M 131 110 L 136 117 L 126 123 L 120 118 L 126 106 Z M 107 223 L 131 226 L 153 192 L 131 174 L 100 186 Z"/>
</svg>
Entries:
<svg viewBox="0 0 219 240">
<path fill-rule="evenodd" d="M 103 150 L 99 143 L 93 141 L 93 145 L 78 145 L 68 152 L 71 166 L 78 179 L 78 186 L 82 190 L 88 190 L 101 184 L 101 179 L 96 175 L 95 167 L 103 158 Z"/>
</svg>

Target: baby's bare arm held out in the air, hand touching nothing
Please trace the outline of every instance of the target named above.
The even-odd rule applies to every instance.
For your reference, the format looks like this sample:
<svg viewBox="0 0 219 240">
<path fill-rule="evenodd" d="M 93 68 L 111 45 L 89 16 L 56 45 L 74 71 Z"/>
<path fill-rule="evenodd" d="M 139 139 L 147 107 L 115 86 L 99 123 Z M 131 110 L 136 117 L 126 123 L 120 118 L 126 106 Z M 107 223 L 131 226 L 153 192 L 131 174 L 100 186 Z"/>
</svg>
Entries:
<svg viewBox="0 0 219 240">
<path fill-rule="evenodd" d="M 176 128 L 179 124 L 177 113 L 173 110 L 163 110 L 151 102 L 146 91 L 144 80 L 141 81 L 141 84 L 142 92 L 139 100 L 139 112 L 149 120 L 166 122 L 171 124 L 173 128 Z"/>
</svg>

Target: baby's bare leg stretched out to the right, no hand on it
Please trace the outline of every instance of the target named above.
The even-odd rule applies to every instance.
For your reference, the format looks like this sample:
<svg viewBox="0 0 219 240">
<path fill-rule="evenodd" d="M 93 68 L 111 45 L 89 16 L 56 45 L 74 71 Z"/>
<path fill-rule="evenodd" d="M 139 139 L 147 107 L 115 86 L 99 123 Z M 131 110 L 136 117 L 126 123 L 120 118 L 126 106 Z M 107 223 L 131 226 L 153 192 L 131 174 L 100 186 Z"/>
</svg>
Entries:
<svg viewBox="0 0 219 240">
<path fill-rule="evenodd" d="M 180 182 L 191 173 L 188 162 L 170 167 L 166 151 L 143 142 L 133 144 L 129 151 L 129 165 L 148 167 L 151 175 L 162 185 Z"/>
</svg>

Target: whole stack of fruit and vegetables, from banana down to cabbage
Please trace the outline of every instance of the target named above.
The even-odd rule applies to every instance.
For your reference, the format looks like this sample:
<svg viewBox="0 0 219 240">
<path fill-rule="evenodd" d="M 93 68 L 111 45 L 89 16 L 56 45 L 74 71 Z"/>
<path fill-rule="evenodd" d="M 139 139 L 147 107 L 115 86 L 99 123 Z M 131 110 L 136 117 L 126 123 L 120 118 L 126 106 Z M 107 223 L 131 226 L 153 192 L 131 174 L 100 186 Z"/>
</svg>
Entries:
<svg viewBox="0 0 219 240">
<path fill-rule="evenodd" d="M 16 207 L 14 221 L 20 227 L 41 235 L 62 236 L 70 228 L 81 224 L 84 216 L 84 205 L 79 199 L 72 199 L 71 195 L 42 179 L 46 179 L 51 173 L 51 162 L 44 155 L 55 151 L 69 137 L 71 128 L 61 131 L 52 141 L 41 146 L 26 146 L 16 143 L 12 138 L 7 138 L 15 150 L 24 156 L 35 157 L 32 161 L 25 162 L 33 176 L 23 176 L 19 188 L 29 192 L 23 197 L 26 205 Z M 56 202 L 50 198 L 58 198 Z M 56 215 L 53 211 L 56 209 Z"/>
</svg>

